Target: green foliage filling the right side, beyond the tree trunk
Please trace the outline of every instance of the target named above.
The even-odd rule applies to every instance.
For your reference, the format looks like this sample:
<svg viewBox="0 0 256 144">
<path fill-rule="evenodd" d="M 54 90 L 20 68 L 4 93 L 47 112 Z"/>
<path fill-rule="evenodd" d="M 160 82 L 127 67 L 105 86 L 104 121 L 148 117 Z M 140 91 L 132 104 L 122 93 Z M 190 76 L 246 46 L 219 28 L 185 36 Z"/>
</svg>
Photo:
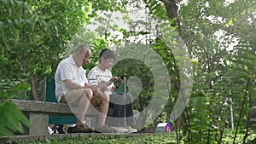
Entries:
<svg viewBox="0 0 256 144">
<path fill-rule="evenodd" d="M 245 142 L 248 131 L 254 130 L 249 126 L 255 101 L 253 3 L 191 1 L 182 6 L 183 38 L 196 60 L 194 92 L 183 117 L 186 141 L 223 142 L 231 127 L 231 105 L 236 125 L 232 142 L 238 142 L 238 133 L 243 135 L 239 141 Z M 230 50 L 234 43 L 238 44 Z"/>
</svg>

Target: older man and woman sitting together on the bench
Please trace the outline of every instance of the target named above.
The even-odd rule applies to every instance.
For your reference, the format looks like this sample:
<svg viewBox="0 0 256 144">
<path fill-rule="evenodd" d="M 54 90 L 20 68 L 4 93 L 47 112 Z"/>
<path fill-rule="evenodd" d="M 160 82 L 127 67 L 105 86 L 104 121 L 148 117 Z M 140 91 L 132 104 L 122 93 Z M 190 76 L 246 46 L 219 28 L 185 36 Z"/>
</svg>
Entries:
<svg viewBox="0 0 256 144">
<path fill-rule="evenodd" d="M 122 78 L 113 77 L 109 68 L 113 66 L 115 54 L 110 49 L 102 49 L 99 63 L 89 72 L 88 79 L 95 79 L 97 85 L 88 83 L 84 65 L 90 62 L 91 51 L 87 45 L 79 45 L 73 55 L 61 60 L 55 72 L 55 96 L 58 102 L 67 103 L 77 117 L 71 133 L 133 133 L 131 126 L 135 124 L 132 110 L 132 96 L 129 93 L 115 93 Z M 113 81 L 117 81 L 114 85 Z M 98 120 L 95 128 L 84 123 L 84 116 L 89 105 L 99 107 Z M 108 115 L 108 107 L 113 112 Z"/>
</svg>

